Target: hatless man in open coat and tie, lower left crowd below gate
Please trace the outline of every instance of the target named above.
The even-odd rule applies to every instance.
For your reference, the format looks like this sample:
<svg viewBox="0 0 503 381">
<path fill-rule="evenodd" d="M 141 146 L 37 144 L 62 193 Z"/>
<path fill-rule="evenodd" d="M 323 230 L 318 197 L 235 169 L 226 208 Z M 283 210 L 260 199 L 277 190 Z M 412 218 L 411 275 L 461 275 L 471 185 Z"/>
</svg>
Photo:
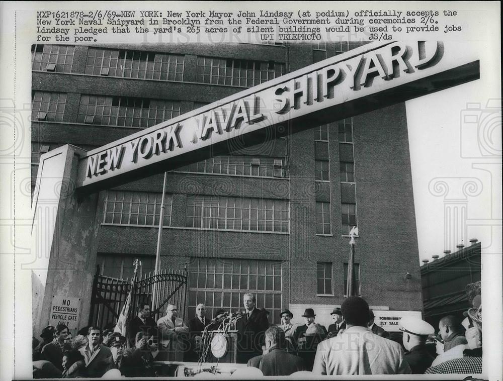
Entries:
<svg viewBox="0 0 503 381">
<path fill-rule="evenodd" d="M 101 328 L 89 327 L 88 345 L 79 349 L 86 361 L 88 377 L 101 377 L 108 370 L 112 351 L 109 347 L 100 344 Z"/>
</svg>

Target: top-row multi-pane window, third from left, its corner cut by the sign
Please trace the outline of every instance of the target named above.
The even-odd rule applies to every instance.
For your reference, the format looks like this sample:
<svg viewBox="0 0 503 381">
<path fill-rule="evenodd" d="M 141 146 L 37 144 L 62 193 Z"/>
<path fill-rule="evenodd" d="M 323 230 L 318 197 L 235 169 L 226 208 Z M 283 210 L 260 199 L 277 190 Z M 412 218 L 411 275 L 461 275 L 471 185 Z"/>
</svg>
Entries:
<svg viewBox="0 0 503 381">
<path fill-rule="evenodd" d="M 198 57 L 196 81 L 250 87 L 284 73 L 284 63 Z"/>
</svg>

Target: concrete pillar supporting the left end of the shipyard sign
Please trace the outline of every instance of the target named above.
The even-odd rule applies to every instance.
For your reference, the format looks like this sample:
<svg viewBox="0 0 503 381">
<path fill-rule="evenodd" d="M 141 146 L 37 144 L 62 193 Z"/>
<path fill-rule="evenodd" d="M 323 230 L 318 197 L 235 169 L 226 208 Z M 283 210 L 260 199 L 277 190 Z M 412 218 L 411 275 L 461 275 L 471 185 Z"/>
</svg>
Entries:
<svg viewBox="0 0 503 381">
<path fill-rule="evenodd" d="M 75 298 L 77 327 L 88 324 L 96 268 L 99 194 L 75 192 L 79 155 L 86 151 L 65 145 L 40 158 L 32 201 L 33 335 L 49 324 L 54 297 Z"/>
</svg>

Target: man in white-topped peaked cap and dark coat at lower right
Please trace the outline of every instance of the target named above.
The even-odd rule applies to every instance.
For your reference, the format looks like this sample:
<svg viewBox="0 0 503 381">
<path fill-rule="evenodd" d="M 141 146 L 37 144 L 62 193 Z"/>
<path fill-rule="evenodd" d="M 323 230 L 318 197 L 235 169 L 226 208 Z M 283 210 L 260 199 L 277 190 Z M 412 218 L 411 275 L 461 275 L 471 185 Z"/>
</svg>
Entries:
<svg viewBox="0 0 503 381">
<path fill-rule="evenodd" d="M 426 348 L 428 335 L 435 333 L 435 328 L 424 320 L 413 317 L 400 319 L 400 331 L 403 331 L 403 346 L 408 351 L 404 359 L 408 362 L 412 374 L 423 374 L 434 358 Z"/>
</svg>

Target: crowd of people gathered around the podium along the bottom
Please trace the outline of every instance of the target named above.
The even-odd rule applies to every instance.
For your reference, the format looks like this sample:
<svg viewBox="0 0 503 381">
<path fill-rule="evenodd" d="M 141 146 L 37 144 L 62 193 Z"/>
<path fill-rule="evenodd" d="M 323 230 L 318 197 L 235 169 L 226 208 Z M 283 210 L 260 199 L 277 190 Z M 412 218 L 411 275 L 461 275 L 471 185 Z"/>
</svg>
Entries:
<svg viewBox="0 0 503 381">
<path fill-rule="evenodd" d="M 400 320 L 401 332 L 387 332 L 374 323 L 372 310 L 360 297 L 349 297 L 334 308 L 328 328 L 315 322 L 312 308 L 305 309 L 303 325 L 292 324 L 288 309 L 280 313 L 281 324 L 270 325 L 268 312 L 256 306 L 253 294 L 244 294 L 243 307 L 235 320 L 237 362 L 264 375 L 482 372 L 480 297 L 465 312 L 465 320 L 445 316 L 437 332 L 426 321 L 410 317 Z M 201 360 L 203 331 L 218 329 L 228 317 L 229 312 L 218 309 L 210 319 L 206 307 L 198 304 L 186 324 L 177 306 L 170 304 L 165 316 L 155 321 L 150 306 L 140 304 L 128 323 L 127 337 L 113 326 L 103 331 L 85 327 L 75 337 L 65 325 L 48 326 L 40 334 L 42 342 L 33 338 L 33 376 L 101 377 L 112 369 L 127 377 L 160 375 L 154 360 Z"/>
</svg>

